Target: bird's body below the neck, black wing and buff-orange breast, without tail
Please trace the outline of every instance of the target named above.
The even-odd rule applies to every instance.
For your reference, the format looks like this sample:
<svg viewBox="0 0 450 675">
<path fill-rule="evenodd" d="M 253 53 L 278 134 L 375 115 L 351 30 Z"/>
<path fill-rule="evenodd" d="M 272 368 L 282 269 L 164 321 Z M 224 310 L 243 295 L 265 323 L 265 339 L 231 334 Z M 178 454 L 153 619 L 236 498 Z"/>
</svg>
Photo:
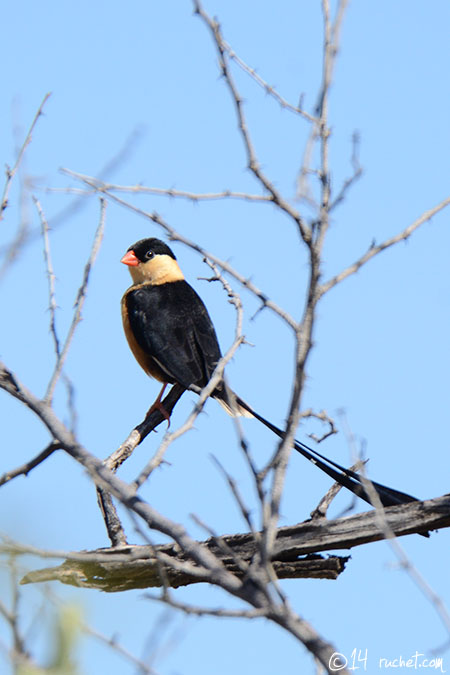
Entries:
<svg viewBox="0 0 450 675">
<path fill-rule="evenodd" d="M 137 343 L 175 381 L 204 387 L 221 358 L 216 332 L 200 297 L 186 281 L 145 285 L 126 297 Z"/>
</svg>

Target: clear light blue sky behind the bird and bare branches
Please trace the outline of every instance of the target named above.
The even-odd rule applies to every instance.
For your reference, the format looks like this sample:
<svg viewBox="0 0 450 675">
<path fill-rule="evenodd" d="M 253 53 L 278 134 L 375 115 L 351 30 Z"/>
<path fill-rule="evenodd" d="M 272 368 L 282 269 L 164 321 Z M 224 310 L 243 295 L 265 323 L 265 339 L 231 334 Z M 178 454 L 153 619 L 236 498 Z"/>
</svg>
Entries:
<svg viewBox="0 0 450 675">
<path fill-rule="evenodd" d="M 219 17 L 226 39 L 262 77 L 293 103 L 303 94 L 305 108 L 313 109 L 322 49 L 318 2 L 205 0 L 205 9 Z M 373 240 L 397 233 L 448 195 L 449 19 L 449 5 L 440 0 L 349 6 L 330 97 L 333 185 L 337 188 L 351 172 L 355 130 L 361 138 L 364 175 L 333 214 L 325 278 L 351 263 Z M 40 101 L 46 92 L 52 96 L 22 167 L 21 179 L 31 180 L 32 190 L 21 200 L 20 181 L 15 180 L 0 245 L 11 241 L 21 217 L 31 228 L 39 227 L 30 199 L 33 192 L 53 228 L 57 325 L 64 336 L 99 206 L 95 197 L 78 203 L 72 194 L 46 189 L 79 187 L 61 174 L 61 167 L 101 174 L 117 184 L 193 192 L 259 192 L 259 186 L 245 168 L 233 106 L 218 76 L 210 35 L 193 16 L 189 2 L 134 0 L 125 7 L 85 0 L 25 1 L 10 3 L 3 20 L 3 164 L 13 163 L 18 139 Z M 235 71 L 235 77 L 261 163 L 286 198 L 306 208 L 295 201 L 295 189 L 307 124 L 281 110 L 244 73 Z M 123 155 L 117 159 L 119 153 Z M 183 235 L 230 260 L 273 300 L 300 316 L 305 252 L 292 224 L 271 206 L 237 201 L 191 204 L 155 196 L 129 199 L 159 211 Z M 72 209 L 71 215 L 61 218 L 67 209 Z M 76 387 L 80 439 L 99 457 L 119 445 L 157 391 L 135 364 L 122 335 L 119 301 L 129 276 L 119 259 L 135 240 L 162 235 L 156 225 L 108 205 L 104 243 L 66 368 Z M 217 284 L 198 279 L 209 274 L 198 255 L 181 245 L 174 250 L 204 298 L 226 349 L 234 331 L 226 296 Z M 448 491 L 449 250 L 449 214 L 444 211 L 324 299 L 304 397 L 305 407 L 325 408 L 339 424 L 339 411 L 345 411 L 357 446 L 364 444 L 370 457 L 371 475 L 421 498 Z M 7 317 L 1 357 L 33 391 L 43 393 L 53 353 L 39 237 L 2 278 L 0 290 Z M 227 369 L 229 379 L 257 410 L 282 424 L 292 378 L 292 338 L 267 311 L 252 321 L 257 304 L 245 291 L 242 298 L 245 334 L 253 347 L 240 349 Z M 279 347 L 275 355 L 274 345 Z M 185 399 L 176 410 L 177 426 L 192 405 L 192 398 Z M 67 419 L 63 387 L 57 391 L 56 409 Z M 3 473 L 40 451 L 48 439 L 41 425 L 4 394 L 1 410 L 2 419 L 9 421 L 2 424 Z M 254 504 L 230 420 L 212 401 L 206 410 L 196 430 L 171 448 L 170 465 L 143 489 L 153 506 L 197 537 L 203 533 L 192 524 L 191 513 L 218 532 L 245 528 L 211 454 L 220 458 Z M 299 435 L 313 430 L 317 427 L 311 425 Z M 246 421 L 245 433 L 255 456 L 262 461 L 270 455 L 275 441 L 256 422 Z M 161 437 L 147 439 L 121 476 L 133 478 Z M 339 462 L 352 461 L 342 428 L 321 451 Z M 328 486 L 329 480 L 314 467 L 292 457 L 282 524 L 307 518 Z M 340 496 L 333 512 L 339 513 L 348 501 Z M 107 544 L 94 490 L 68 457 L 54 456 L 27 479 L 3 487 L 0 503 L 0 530 L 30 545 L 78 550 Z M 128 527 L 130 539 L 137 541 L 132 525 Z M 448 537 L 443 530 L 429 540 L 410 537 L 401 542 L 447 602 Z M 385 543 L 355 549 L 336 582 L 298 580 L 283 587 L 293 607 L 344 654 L 367 649 L 369 672 L 377 672 L 379 658 L 428 653 L 446 637 L 435 611 L 397 569 Z M 145 651 L 149 635 L 159 635 L 158 626 L 165 625 L 165 610 L 143 600 L 140 592 L 106 596 L 53 590 L 81 605 L 86 621 L 106 634 L 118 634 L 138 655 Z M 177 596 L 199 604 L 235 606 L 219 591 L 201 586 L 180 590 Z M 26 624 L 40 602 L 35 589 L 23 590 Z M 218 675 L 272 675 L 293 665 L 300 672 L 314 672 L 305 650 L 264 621 L 170 614 L 167 629 L 160 629 L 165 646 L 157 651 L 154 667 L 164 675 L 206 675 L 212 669 Z M 5 635 L 0 627 L 0 637 Z M 38 639 L 36 645 L 44 649 Z M 448 652 L 443 658 L 448 670 Z M 100 662 L 105 672 L 135 672 L 93 641 L 82 643 L 80 660 L 88 674 L 98 673 Z"/>
</svg>

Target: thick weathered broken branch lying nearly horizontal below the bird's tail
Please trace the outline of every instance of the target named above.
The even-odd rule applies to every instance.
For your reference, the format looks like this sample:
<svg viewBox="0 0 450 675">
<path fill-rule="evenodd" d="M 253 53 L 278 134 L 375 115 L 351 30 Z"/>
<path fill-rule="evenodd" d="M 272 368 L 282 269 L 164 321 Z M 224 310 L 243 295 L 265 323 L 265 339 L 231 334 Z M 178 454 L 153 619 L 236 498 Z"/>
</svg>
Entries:
<svg viewBox="0 0 450 675">
<path fill-rule="evenodd" d="M 450 527 L 450 495 L 391 506 L 384 509 L 384 518 L 398 537 Z M 375 511 L 336 520 L 318 518 L 277 531 L 272 565 L 280 579 L 336 579 L 348 558 L 333 556 L 325 559 L 314 554 L 353 548 L 384 538 Z M 259 545 L 252 533 L 223 536 L 219 543 L 212 537 L 201 543 L 220 559 L 228 572 L 239 578 L 243 578 L 244 573 L 236 565 L 236 559 L 251 563 Z M 66 560 L 59 567 L 30 572 L 22 583 L 58 580 L 84 588 L 118 592 L 162 586 L 161 566 L 165 580 L 174 588 L 209 580 L 208 574 L 192 573 L 192 561 L 176 544 L 98 549 L 85 555 L 86 561 Z"/>
</svg>

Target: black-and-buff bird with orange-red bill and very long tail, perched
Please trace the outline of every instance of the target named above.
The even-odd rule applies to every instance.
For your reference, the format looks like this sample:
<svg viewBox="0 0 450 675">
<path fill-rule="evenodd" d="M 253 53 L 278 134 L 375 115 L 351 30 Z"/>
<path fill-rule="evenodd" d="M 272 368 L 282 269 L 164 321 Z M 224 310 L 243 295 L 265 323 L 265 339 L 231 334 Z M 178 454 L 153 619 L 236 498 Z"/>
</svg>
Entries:
<svg viewBox="0 0 450 675">
<path fill-rule="evenodd" d="M 168 384 L 179 384 L 199 393 L 222 358 L 216 331 L 202 299 L 185 280 L 172 249 L 155 237 L 140 239 L 121 258 L 128 266 L 132 285 L 125 291 L 122 321 L 129 347 L 147 375 L 162 383 L 149 409 L 159 408 L 168 419 L 161 399 Z M 256 412 L 230 389 L 224 377 L 211 393 L 231 415 L 254 417 L 279 438 L 284 432 Z M 372 504 L 374 490 L 383 506 L 418 501 L 405 492 L 370 481 L 346 469 L 305 443 L 294 440 L 294 449 L 342 487 Z"/>
</svg>

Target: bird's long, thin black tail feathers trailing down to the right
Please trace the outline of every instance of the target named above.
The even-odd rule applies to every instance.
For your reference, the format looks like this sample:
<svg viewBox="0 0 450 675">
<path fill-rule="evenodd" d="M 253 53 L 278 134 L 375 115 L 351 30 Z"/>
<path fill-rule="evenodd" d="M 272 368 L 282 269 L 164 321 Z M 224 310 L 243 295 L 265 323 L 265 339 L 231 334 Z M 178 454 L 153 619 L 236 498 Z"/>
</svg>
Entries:
<svg viewBox="0 0 450 675">
<path fill-rule="evenodd" d="M 256 417 L 265 427 L 273 431 L 279 438 L 284 438 L 284 432 L 281 431 L 274 424 L 266 420 L 265 417 L 259 415 L 251 406 L 243 401 L 239 396 L 236 396 L 236 402 L 239 407 L 244 408 L 250 415 Z M 301 441 L 294 440 L 294 448 L 299 452 L 303 457 L 306 457 L 310 462 L 315 464 L 319 469 L 324 471 L 330 478 L 332 478 L 336 483 L 342 485 L 343 487 L 353 492 L 357 497 L 364 499 L 368 504 L 372 504 L 369 492 L 364 487 L 364 478 L 351 469 L 345 469 L 340 464 L 333 462 L 325 455 L 321 455 L 317 450 L 305 445 Z M 386 487 L 386 485 L 381 485 L 375 481 L 370 481 L 373 489 L 377 492 L 381 503 L 383 506 L 395 506 L 398 504 L 409 504 L 410 502 L 418 501 L 415 497 L 406 494 L 405 492 L 399 492 L 399 490 L 394 490 L 393 488 Z"/>
</svg>

